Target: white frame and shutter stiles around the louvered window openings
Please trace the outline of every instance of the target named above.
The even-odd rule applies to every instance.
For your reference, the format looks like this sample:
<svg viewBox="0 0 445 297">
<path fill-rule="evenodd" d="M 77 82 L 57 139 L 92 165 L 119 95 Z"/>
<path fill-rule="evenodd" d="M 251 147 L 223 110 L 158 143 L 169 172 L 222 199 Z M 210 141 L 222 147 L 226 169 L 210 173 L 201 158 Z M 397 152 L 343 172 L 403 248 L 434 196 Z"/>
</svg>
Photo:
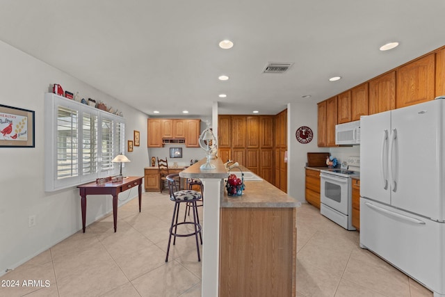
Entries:
<svg viewBox="0 0 445 297">
<path fill-rule="evenodd" d="M 68 175 L 67 177 L 58 177 L 58 169 L 60 168 L 60 163 L 58 164 L 58 111 L 59 107 L 63 109 L 70 109 L 71 111 L 76 111 L 77 120 L 73 118 L 68 118 L 67 122 L 76 121 L 76 135 L 73 145 L 76 144 L 77 154 L 74 159 L 70 159 L 72 163 L 76 163 L 77 174 Z M 67 113 L 69 114 L 69 113 Z M 85 125 L 84 115 L 89 117 L 90 121 L 95 122 L 95 125 Z M 105 141 L 105 130 L 102 129 L 102 123 L 108 122 L 110 133 L 108 134 L 108 150 L 103 152 L 103 142 Z M 90 122 L 91 123 L 91 122 Z M 90 127 L 90 130 L 88 130 Z M 95 138 L 94 142 L 88 143 L 90 150 L 93 150 L 93 155 L 90 152 L 87 153 L 85 149 L 86 143 L 83 143 L 84 135 L 86 132 L 90 133 L 90 139 Z M 54 93 L 46 93 L 44 95 L 44 156 L 45 156 L 45 175 L 44 184 L 45 191 L 58 191 L 63 188 L 70 188 L 72 186 L 78 186 L 79 184 L 85 184 L 87 182 L 93 182 L 99 177 L 108 177 L 112 175 L 117 175 L 119 173 L 119 164 L 110 163 L 110 158 L 113 159 L 114 156 L 124 152 L 124 139 L 125 139 L 125 119 L 96 109 L 95 107 L 88 106 L 86 104 L 81 104 L 80 102 L 67 99 L 65 97 L 56 95 Z M 86 159 L 83 157 L 86 156 Z M 107 156 L 108 162 L 106 163 L 106 168 L 102 166 L 102 156 Z M 74 161 L 76 160 L 76 161 Z M 84 163 L 86 160 L 90 160 Z M 68 166 L 70 164 L 68 161 Z M 92 168 L 92 170 L 87 170 L 84 172 L 83 168 Z"/>
</svg>

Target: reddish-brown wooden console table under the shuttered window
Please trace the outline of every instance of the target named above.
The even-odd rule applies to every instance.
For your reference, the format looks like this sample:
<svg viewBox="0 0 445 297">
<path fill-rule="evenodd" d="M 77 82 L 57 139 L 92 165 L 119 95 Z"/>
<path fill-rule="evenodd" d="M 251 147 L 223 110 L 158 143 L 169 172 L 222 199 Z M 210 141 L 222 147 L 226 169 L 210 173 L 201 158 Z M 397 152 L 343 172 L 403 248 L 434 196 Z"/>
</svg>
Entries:
<svg viewBox="0 0 445 297">
<path fill-rule="evenodd" d="M 140 202 L 142 198 L 142 179 L 144 177 L 124 177 L 122 182 L 108 182 L 106 184 L 96 184 L 96 182 L 90 182 L 89 184 L 82 184 L 77 186 L 81 195 L 81 207 L 82 207 L 82 230 L 85 233 L 86 222 L 86 196 L 87 195 L 112 195 L 113 196 L 113 221 L 114 232 L 116 232 L 117 220 L 118 220 L 118 195 L 123 191 L 127 191 L 130 188 L 138 186 L 139 193 L 139 212 Z"/>
</svg>

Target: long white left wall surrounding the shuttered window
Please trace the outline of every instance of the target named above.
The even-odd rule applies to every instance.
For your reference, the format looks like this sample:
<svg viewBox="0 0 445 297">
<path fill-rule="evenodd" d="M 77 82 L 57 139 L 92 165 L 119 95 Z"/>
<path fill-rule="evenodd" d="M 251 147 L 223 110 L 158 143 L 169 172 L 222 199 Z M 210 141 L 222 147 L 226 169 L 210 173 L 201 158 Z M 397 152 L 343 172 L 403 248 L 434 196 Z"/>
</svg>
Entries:
<svg viewBox="0 0 445 297">
<path fill-rule="evenodd" d="M 0 65 L 0 104 L 35 111 L 35 147 L 0 147 L 0 275 L 3 275 L 7 268 L 17 267 L 81 230 L 79 191 L 67 188 L 44 192 L 43 99 L 53 83 L 122 111 L 127 120 L 127 140 L 133 139 L 133 130 L 140 131 L 141 146 L 126 153 L 131 160 L 123 169 L 126 175 L 143 176 L 143 168 L 149 161 L 144 113 L 4 42 L 0 42 Z M 122 193 L 121 199 L 136 196 L 137 189 L 133 189 L 130 195 L 128 191 Z M 88 198 L 87 224 L 111 211 L 111 197 Z M 36 217 L 34 227 L 28 227 L 31 215 Z"/>
</svg>

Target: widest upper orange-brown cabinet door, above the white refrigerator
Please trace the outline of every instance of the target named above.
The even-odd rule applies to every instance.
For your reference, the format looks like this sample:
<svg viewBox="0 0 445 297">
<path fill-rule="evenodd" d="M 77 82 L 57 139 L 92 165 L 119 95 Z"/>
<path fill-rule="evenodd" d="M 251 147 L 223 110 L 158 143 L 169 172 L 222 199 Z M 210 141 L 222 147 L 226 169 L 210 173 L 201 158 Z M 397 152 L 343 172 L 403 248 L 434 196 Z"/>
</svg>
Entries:
<svg viewBox="0 0 445 297">
<path fill-rule="evenodd" d="M 396 70 L 396 108 L 427 102 L 435 97 L 435 54 Z"/>
</svg>

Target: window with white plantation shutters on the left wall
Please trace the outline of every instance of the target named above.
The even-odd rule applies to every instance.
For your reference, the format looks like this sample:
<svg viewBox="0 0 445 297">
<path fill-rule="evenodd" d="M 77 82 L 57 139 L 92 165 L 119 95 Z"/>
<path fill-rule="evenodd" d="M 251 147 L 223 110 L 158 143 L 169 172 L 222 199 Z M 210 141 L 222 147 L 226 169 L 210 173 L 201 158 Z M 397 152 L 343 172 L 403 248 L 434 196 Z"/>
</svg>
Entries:
<svg viewBox="0 0 445 297">
<path fill-rule="evenodd" d="M 45 191 L 117 174 L 124 119 L 52 93 L 44 100 Z"/>
</svg>

